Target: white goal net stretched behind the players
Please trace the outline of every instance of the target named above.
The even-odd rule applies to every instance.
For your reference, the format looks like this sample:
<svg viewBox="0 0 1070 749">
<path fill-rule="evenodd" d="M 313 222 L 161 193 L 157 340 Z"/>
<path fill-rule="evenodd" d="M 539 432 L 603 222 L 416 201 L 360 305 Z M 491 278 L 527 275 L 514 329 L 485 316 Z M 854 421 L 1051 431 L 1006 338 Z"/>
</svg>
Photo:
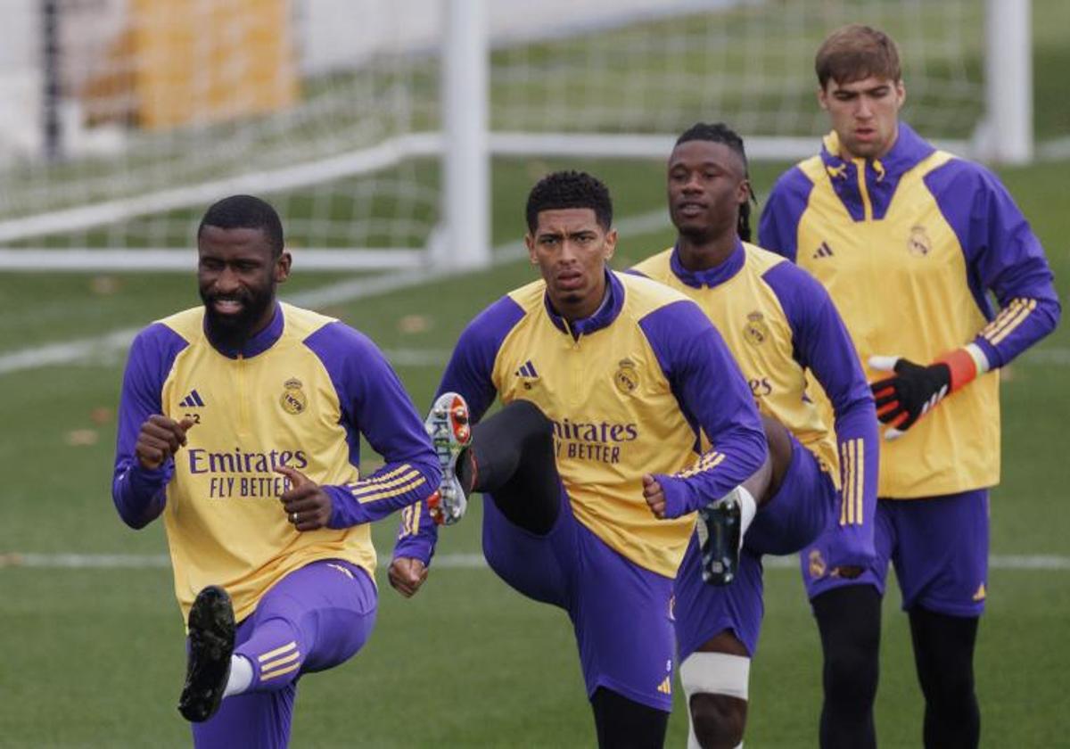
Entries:
<svg viewBox="0 0 1070 749">
<path fill-rule="evenodd" d="M 486 108 L 489 154 L 663 158 L 721 120 L 789 158 L 825 127 L 813 54 L 852 21 L 899 42 L 912 124 L 980 142 L 985 9 L 1008 1 L 6 0 L 0 258 L 188 270 L 207 204 L 248 192 L 322 266 L 427 262 L 457 3 L 483 6 L 488 98 L 452 105 Z"/>
</svg>

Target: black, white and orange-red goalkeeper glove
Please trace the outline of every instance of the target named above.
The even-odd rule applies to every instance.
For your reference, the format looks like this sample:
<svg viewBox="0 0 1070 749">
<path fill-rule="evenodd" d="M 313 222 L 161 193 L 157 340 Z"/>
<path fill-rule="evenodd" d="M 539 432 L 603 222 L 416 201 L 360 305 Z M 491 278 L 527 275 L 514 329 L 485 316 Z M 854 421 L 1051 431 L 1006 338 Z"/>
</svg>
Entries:
<svg viewBox="0 0 1070 749">
<path fill-rule="evenodd" d="M 957 349 L 929 366 L 902 356 L 871 356 L 869 365 L 871 369 L 895 372 L 870 385 L 876 400 L 876 416 L 889 425 L 886 440 L 901 437 L 947 395 L 974 380 L 978 370 L 984 371 L 967 349 Z"/>
</svg>

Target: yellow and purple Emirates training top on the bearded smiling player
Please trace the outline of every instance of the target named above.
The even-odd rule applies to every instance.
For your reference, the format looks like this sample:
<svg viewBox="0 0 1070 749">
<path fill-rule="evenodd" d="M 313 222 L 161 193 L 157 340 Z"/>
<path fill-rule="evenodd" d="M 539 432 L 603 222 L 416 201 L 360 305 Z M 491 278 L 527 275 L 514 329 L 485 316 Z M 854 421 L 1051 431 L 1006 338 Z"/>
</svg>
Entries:
<svg viewBox="0 0 1070 749">
<path fill-rule="evenodd" d="M 152 414 L 196 422 L 188 443 L 157 470 L 135 456 Z M 386 464 L 362 477 L 360 437 Z M 290 467 L 326 491 L 328 528 L 301 533 L 278 496 Z M 341 559 L 373 578 L 367 523 L 426 499 L 441 472 L 412 401 L 367 337 L 286 304 L 241 351 L 204 333 L 202 307 L 143 330 L 131 348 L 119 406 L 112 499 L 142 528 L 160 514 L 174 592 L 188 616 L 197 593 L 223 585 L 248 616 L 285 575 Z"/>
</svg>

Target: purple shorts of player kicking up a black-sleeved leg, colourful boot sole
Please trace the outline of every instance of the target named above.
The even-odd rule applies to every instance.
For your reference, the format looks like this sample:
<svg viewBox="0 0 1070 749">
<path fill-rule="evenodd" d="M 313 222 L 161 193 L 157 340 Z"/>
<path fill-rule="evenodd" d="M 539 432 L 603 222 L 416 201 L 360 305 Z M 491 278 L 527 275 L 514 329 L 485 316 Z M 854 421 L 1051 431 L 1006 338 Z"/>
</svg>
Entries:
<svg viewBox="0 0 1070 749">
<path fill-rule="evenodd" d="M 545 536 L 484 502 L 483 550 L 510 586 L 568 612 L 588 698 L 605 687 L 672 709 L 672 580 L 626 560 L 576 520 L 564 490 Z"/>
</svg>

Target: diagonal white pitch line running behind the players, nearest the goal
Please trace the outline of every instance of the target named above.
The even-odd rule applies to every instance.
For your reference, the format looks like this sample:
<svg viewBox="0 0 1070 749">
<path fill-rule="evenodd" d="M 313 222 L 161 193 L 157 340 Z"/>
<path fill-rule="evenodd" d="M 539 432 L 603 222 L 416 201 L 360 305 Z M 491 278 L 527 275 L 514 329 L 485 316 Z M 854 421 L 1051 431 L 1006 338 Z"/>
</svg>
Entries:
<svg viewBox="0 0 1070 749">
<path fill-rule="evenodd" d="M 663 211 L 652 211 L 651 213 L 635 216 L 633 218 L 622 219 L 617 224 L 616 229 L 624 234 L 640 235 L 664 229 L 668 226 L 669 218 Z M 514 262 L 524 257 L 524 246 L 520 242 L 508 242 L 499 245 L 492 250 L 491 266 Z M 282 299 L 299 307 L 317 309 L 358 299 L 378 296 L 392 291 L 408 289 L 421 284 L 430 284 L 449 276 L 471 272 L 455 269 L 401 271 L 372 276 L 370 278 L 356 278 L 337 284 L 328 284 L 318 289 L 282 295 Z M 505 289 L 502 291 L 504 292 Z M 0 354 L 0 376 L 41 367 L 65 366 L 100 361 L 102 357 L 125 352 L 129 348 L 131 341 L 134 340 L 134 336 L 138 334 L 138 331 L 140 331 L 138 327 L 126 327 L 103 336 L 49 343 L 47 346 Z M 445 362 L 445 360 L 442 361 Z"/>
</svg>

